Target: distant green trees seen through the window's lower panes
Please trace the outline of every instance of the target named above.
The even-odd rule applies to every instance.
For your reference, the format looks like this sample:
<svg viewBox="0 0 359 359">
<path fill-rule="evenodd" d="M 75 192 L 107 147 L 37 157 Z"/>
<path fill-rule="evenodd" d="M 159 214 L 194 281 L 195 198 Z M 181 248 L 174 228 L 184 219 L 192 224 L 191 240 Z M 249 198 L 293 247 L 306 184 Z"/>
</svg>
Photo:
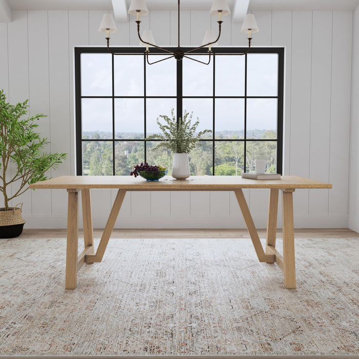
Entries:
<svg viewBox="0 0 359 359">
<path fill-rule="evenodd" d="M 273 130 L 253 130 L 247 132 L 251 139 L 275 139 Z M 84 175 L 113 175 L 112 141 L 86 141 L 86 139 L 112 139 L 110 132 L 84 132 L 83 133 L 83 174 Z M 145 143 L 143 141 L 126 141 L 129 138 L 143 138 L 143 135 L 115 134 L 121 138 L 115 142 L 115 175 L 129 175 L 132 166 L 144 162 Z M 204 137 L 206 138 L 206 137 Z M 207 137 L 210 138 L 210 137 Z M 276 142 L 275 141 L 247 141 L 246 154 L 243 131 L 216 132 L 216 138 L 231 139 L 232 141 L 215 142 L 214 174 L 237 175 L 244 172 L 244 158 L 246 158 L 246 172 L 254 171 L 255 159 L 267 161 L 267 172 L 275 173 Z M 153 150 L 155 142 L 146 142 L 147 162 L 150 165 L 166 167 L 171 174 L 172 153 L 166 149 Z M 190 169 L 193 175 L 212 175 L 212 142 L 200 141 L 189 154 Z"/>
</svg>

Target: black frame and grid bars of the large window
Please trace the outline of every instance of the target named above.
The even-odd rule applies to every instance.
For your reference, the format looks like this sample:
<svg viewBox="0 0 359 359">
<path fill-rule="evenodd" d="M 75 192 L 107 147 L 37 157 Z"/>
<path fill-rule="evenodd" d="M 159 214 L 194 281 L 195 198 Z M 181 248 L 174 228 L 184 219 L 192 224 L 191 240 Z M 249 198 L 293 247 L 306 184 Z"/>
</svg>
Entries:
<svg viewBox="0 0 359 359">
<path fill-rule="evenodd" d="M 200 142 L 211 142 L 212 143 L 212 175 L 215 173 L 215 154 L 216 154 L 216 148 L 215 144 L 216 142 L 243 142 L 244 143 L 244 172 L 247 171 L 247 145 L 250 142 L 276 142 L 277 143 L 277 153 L 276 153 L 276 166 L 278 173 L 282 173 L 282 147 L 283 147 L 283 139 L 281 136 L 283 135 L 283 108 L 280 108 L 280 106 L 283 107 L 283 69 L 284 69 L 284 62 L 283 62 L 283 56 L 284 56 L 284 50 L 283 49 L 256 49 L 253 52 L 254 53 L 277 53 L 278 54 L 278 68 L 277 68 L 277 96 L 248 96 L 247 95 L 247 81 L 248 81 L 248 57 L 247 54 L 245 55 L 245 93 L 244 96 L 216 96 L 215 92 L 215 58 L 217 54 L 213 54 L 212 61 L 213 63 L 211 66 L 213 66 L 213 83 L 212 83 L 212 96 L 183 96 L 183 64 L 184 62 L 177 62 L 177 71 L 176 71 L 176 96 L 147 96 L 146 91 L 146 70 L 147 70 L 147 64 L 146 64 L 146 57 L 143 55 L 143 53 L 134 53 L 136 55 L 142 55 L 144 57 L 144 95 L 143 96 L 115 96 L 115 84 L 114 84 L 114 56 L 112 55 L 112 96 L 82 96 L 81 94 L 81 54 L 94 52 L 94 53 L 102 53 L 105 52 L 106 49 L 98 49 L 93 48 L 91 51 L 83 51 L 82 48 L 76 48 L 75 49 L 75 68 L 77 70 L 77 73 L 75 73 L 75 86 L 76 86 L 76 172 L 78 175 L 83 174 L 83 158 L 82 158 L 82 147 L 83 142 L 112 142 L 112 157 L 113 157 L 113 175 L 115 175 L 115 145 L 118 142 L 121 141 L 128 141 L 128 142 L 143 142 L 144 143 L 144 156 L 145 161 L 147 161 L 147 141 L 145 141 L 144 138 L 121 138 L 116 139 L 115 138 L 115 99 L 116 98 L 143 98 L 144 99 L 144 136 L 147 137 L 147 98 L 177 98 L 177 121 L 178 117 L 183 116 L 183 99 L 184 98 L 211 98 L 212 99 L 212 138 L 207 139 L 200 139 Z M 223 51 L 223 50 L 222 50 Z M 228 51 L 228 49 L 226 50 Z M 124 52 L 124 54 L 128 54 L 127 52 Z M 134 55 L 133 54 L 133 55 Z M 218 53 L 218 55 L 225 55 L 225 53 Z M 232 53 L 232 55 L 236 55 L 235 53 Z M 82 99 L 83 98 L 111 98 L 112 99 L 112 139 L 84 139 L 82 138 Z M 244 99 L 244 138 L 237 139 L 237 138 L 217 138 L 215 139 L 215 108 L 216 108 L 216 98 L 243 98 Z M 277 99 L 277 128 L 276 128 L 276 138 L 247 138 L 247 109 L 248 109 L 248 103 L 247 100 L 249 98 L 273 98 Z M 158 141 L 158 140 L 154 140 Z M 81 160 L 79 158 L 81 157 Z M 79 169 L 81 167 L 81 170 Z"/>
</svg>

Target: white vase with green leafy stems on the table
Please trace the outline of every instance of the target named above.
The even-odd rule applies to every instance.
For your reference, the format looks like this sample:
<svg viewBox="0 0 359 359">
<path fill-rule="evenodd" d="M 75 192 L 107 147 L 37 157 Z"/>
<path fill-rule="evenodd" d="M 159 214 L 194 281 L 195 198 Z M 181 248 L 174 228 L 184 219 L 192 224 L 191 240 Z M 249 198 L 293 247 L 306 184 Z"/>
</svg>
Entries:
<svg viewBox="0 0 359 359">
<path fill-rule="evenodd" d="M 188 154 L 195 147 L 197 141 L 211 130 L 203 130 L 196 133 L 200 119 L 197 117 L 196 122 L 192 124 L 193 112 L 185 111 L 183 118 L 179 117 L 178 121 L 171 110 L 171 117 L 159 115 L 166 124 L 163 125 L 157 118 L 157 125 L 161 129 L 162 134 L 152 134 L 146 139 L 160 139 L 161 142 L 153 149 L 156 150 L 165 147 L 173 152 L 172 177 L 176 179 L 185 179 L 190 176 Z"/>
</svg>

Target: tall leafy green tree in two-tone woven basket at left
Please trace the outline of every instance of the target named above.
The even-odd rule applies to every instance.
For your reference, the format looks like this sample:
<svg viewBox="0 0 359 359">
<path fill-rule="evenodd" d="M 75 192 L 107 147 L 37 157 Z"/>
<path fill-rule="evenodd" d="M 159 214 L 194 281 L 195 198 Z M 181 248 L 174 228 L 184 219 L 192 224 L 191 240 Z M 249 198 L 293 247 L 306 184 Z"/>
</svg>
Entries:
<svg viewBox="0 0 359 359">
<path fill-rule="evenodd" d="M 29 184 L 47 179 L 46 171 L 66 158 L 66 153 L 44 152 L 49 142 L 34 128 L 38 127 L 36 121 L 46 116 L 38 113 L 26 118 L 27 103 L 10 105 L 0 90 L 0 192 L 5 205 L 0 208 L 0 238 L 13 238 L 23 231 L 21 207 L 9 207 L 9 202 L 28 190 Z"/>
</svg>

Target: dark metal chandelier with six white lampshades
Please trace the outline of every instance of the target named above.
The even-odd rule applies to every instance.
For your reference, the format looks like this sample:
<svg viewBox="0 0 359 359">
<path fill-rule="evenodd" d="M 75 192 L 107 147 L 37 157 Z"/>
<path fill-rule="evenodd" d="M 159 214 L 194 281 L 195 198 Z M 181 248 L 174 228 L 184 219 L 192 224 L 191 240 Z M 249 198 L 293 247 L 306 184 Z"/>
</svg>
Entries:
<svg viewBox="0 0 359 359">
<path fill-rule="evenodd" d="M 210 10 L 210 14 L 211 15 L 218 15 L 218 35 L 216 36 L 213 32 L 213 30 L 207 30 L 205 37 L 203 39 L 203 43 L 201 46 L 195 47 L 195 48 L 191 48 L 189 50 L 184 50 L 183 48 L 181 48 L 181 46 L 179 45 L 179 34 L 181 33 L 180 29 L 179 29 L 179 1 L 178 0 L 178 46 L 176 49 L 174 50 L 169 50 L 167 48 L 163 48 L 161 46 L 157 46 L 154 42 L 151 30 L 144 30 L 142 37 L 139 34 L 139 26 L 141 24 L 140 21 L 140 17 L 142 15 L 148 15 L 149 11 L 147 9 L 145 0 L 132 0 L 131 4 L 130 4 L 130 8 L 128 9 L 128 13 L 130 15 L 136 16 L 136 21 L 135 23 L 137 24 L 137 35 L 139 38 L 139 45 L 142 46 L 146 46 L 146 50 L 145 50 L 145 55 L 146 55 L 146 60 L 147 63 L 149 65 L 153 65 L 156 64 L 158 62 L 161 61 L 165 61 L 168 58 L 172 58 L 174 57 L 177 61 L 181 61 L 184 57 L 189 58 L 193 61 L 196 61 L 198 63 L 204 64 L 204 65 L 208 65 L 211 62 L 211 55 L 213 55 L 212 46 L 215 46 L 218 44 L 218 40 L 221 37 L 221 28 L 222 28 L 222 16 L 226 16 L 229 15 L 231 12 L 229 10 L 228 4 L 227 4 L 227 0 L 214 0 L 211 10 Z M 110 32 L 115 32 L 117 31 L 115 23 L 113 21 L 112 15 L 111 14 L 105 14 L 103 16 L 102 22 L 101 22 L 101 26 L 99 27 L 99 31 L 101 32 L 106 32 L 106 41 L 107 41 L 107 49 L 109 52 L 111 52 L 113 55 L 121 55 L 122 53 L 115 53 L 110 49 Z M 255 21 L 254 15 L 253 14 L 248 14 L 245 18 L 245 21 L 243 23 L 242 32 L 247 33 L 248 32 L 248 49 L 246 52 L 240 54 L 240 55 L 245 55 L 249 52 L 250 47 L 251 47 L 251 39 L 252 39 L 252 32 L 257 32 L 258 30 L 258 26 L 257 23 Z M 162 58 L 161 60 L 155 61 L 153 63 L 150 63 L 149 61 L 149 46 L 151 47 L 156 47 L 157 49 L 163 50 L 165 52 L 170 53 L 170 56 Z M 198 49 L 202 49 L 204 47 L 208 47 L 208 61 L 207 62 L 203 62 L 200 61 L 196 58 L 190 57 L 187 54 L 190 54 L 191 52 L 198 50 Z"/>
</svg>

